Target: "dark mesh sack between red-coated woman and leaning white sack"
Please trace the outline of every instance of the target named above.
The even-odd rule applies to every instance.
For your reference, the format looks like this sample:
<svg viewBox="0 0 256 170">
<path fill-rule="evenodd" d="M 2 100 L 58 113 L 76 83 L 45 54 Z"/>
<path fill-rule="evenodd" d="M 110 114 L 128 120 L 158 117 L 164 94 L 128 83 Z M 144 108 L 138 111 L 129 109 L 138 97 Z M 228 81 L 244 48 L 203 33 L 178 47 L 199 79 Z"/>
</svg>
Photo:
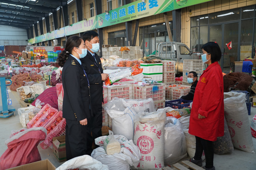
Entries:
<svg viewBox="0 0 256 170">
<path fill-rule="evenodd" d="M 212 142 L 214 153 L 218 155 L 231 153 L 234 151 L 234 146 L 231 141 L 229 134 L 229 127 L 227 127 L 227 122 L 224 120 L 224 136 L 218 137 L 217 141 Z"/>
</svg>

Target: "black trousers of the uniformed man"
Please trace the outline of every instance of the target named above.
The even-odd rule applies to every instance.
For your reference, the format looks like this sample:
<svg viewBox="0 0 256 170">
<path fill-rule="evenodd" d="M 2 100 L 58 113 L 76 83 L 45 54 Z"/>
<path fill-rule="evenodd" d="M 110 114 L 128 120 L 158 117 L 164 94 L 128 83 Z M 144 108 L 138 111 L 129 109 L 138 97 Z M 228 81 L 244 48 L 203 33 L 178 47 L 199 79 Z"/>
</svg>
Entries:
<svg viewBox="0 0 256 170">
<path fill-rule="evenodd" d="M 90 137 L 87 138 L 88 146 L 92 146 L 94 139 L 101 137 L 102 132 L 102 105 L 92 105 L 93 109 L 93 117 L 89 119 L 88 133 L 90 133 Z M 93 136 L 91 136 L 91 133 Z"/>
</svg>

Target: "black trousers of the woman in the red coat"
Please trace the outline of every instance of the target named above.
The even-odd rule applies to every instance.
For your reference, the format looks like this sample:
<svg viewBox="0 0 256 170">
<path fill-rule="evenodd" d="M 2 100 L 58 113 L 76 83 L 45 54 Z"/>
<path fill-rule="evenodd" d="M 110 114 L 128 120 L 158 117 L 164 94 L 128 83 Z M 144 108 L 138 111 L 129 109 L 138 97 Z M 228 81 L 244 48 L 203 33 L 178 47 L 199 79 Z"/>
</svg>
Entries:
<svg viewBox="0 0 256 170">
<path fill-rule="evenodd" d="M 196 153 L 194 159 L 200 160 L 202 158 L 203 151 L 206 159 L 206 167 L 212 168 L 214 155 L 212 141 L 196 137 Z"/>
</svg>

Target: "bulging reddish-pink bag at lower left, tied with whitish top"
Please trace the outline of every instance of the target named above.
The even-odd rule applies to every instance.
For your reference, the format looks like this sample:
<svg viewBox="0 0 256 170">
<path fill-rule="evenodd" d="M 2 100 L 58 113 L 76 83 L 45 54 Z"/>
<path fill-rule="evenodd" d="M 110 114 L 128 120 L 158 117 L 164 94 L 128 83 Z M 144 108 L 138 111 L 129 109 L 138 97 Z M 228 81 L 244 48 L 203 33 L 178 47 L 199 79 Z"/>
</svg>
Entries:
<svg viewBox="0 0 256 170">
<path fill-rule="evenodd" d="M 8 149 L 0 157 L 0 170 L 41 161 L 37 146 L 45 139 L 46 129 L 36 127 L 22 130 L 5 141 Z"/>
</svg>

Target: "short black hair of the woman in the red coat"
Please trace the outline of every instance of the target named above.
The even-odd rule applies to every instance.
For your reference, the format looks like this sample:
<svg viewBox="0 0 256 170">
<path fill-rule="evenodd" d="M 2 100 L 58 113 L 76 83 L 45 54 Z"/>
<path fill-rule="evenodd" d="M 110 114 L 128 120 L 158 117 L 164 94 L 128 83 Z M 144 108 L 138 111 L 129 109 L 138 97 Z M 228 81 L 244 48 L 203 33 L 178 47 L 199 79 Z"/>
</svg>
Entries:
<svg viewBox="0 0 256 170">
<path fill-rule="evenodd" d="M 221 59 L 221 48 L 215 42 L 208 42 L 203 45 L 202 49 L 207 53 L 211 53 L 211 63 L 218 62 Z"/>
</svg>

